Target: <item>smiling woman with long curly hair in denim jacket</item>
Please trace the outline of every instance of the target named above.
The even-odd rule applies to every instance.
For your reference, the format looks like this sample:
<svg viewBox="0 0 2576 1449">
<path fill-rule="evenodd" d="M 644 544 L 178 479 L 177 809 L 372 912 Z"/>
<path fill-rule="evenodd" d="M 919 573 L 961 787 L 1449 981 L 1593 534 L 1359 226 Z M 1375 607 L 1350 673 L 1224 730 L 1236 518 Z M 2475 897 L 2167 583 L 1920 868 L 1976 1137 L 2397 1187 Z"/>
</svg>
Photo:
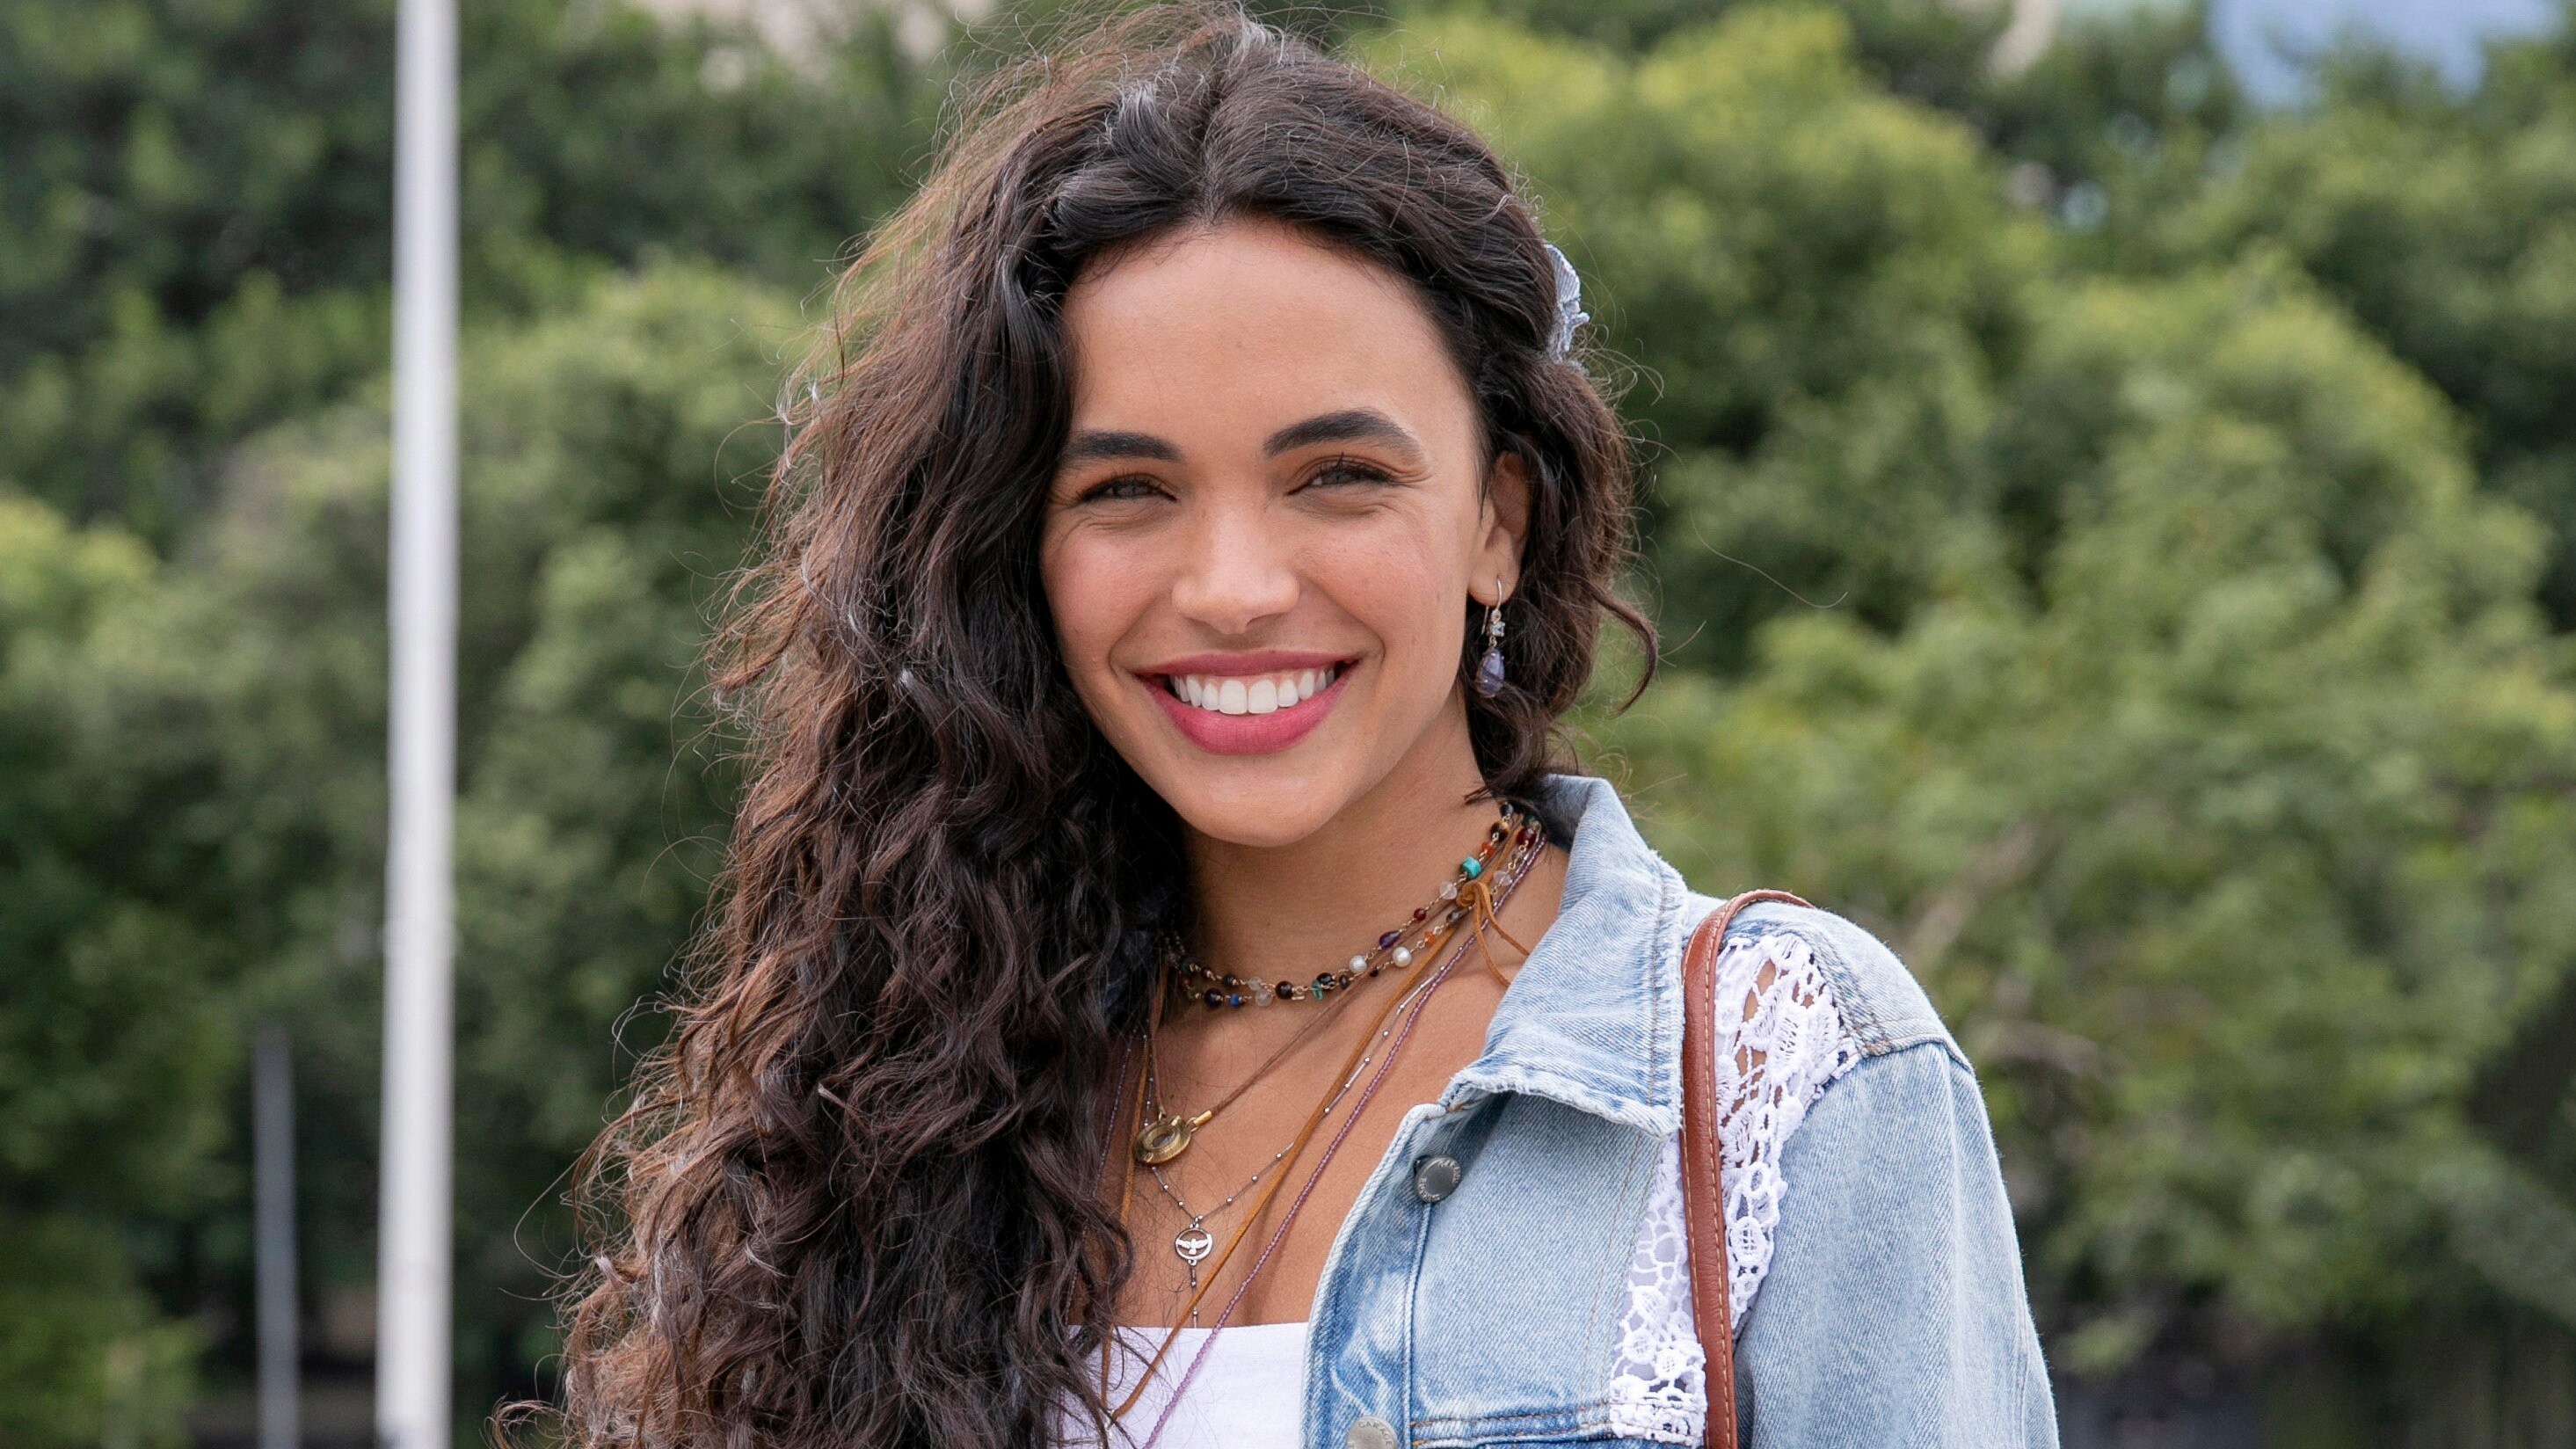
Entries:
<svg viewBox="0 0 2576 1449">
<path fill-rule="evenodd" d="M 1231 10 L 997 95 L 796 389 L 572 1439 L 1700 1444 L 1716 902 L 1551 768 L 1602 621 L 1651 657 L 1571 271 L 1468 129 Z M 1747 1441 L 2053 1441 L 1904 967 L 1759 905 L 1718 1003 Z"/>
</svg>

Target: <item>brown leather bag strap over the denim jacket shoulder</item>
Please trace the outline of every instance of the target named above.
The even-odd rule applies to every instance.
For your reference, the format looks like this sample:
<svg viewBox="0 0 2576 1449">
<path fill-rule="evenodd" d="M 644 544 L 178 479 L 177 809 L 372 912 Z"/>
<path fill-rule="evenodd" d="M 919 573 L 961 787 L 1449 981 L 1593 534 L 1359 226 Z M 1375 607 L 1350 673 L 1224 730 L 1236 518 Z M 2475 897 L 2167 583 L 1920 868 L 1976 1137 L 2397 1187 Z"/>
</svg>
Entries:
<svg viewBox="0 0 2576 1449">
<path fill-rule="evenodd" d="M 1785 890 L 1747 890 L 1710 910 L 1682 951 L 1682 1220 L 1690 1320 L 1708 1354 L 1708 1449 L 1736 1449 L 1736 1318 L 1726 1302 L 1726 1189 L 1718 1178 L 1718 949 L 1736 910 L 1757 900 L 1806 905 Z"/>
</svg>

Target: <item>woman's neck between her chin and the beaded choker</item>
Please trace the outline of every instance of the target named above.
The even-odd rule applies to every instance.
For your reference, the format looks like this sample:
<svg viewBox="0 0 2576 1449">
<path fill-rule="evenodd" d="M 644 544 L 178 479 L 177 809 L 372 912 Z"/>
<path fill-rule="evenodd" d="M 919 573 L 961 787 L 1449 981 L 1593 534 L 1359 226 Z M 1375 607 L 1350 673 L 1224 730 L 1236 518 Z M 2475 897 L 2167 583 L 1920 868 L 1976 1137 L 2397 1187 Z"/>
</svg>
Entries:
<svg viewBox="0 0 2576 1449">
<path fill-rule="evenodd" d="M 1311 980 L 1437 897 L 1497 807 L 1458 712 L 1365 797 L 1293 846 L 1190 841 L 1193 946 L 1218 975 Z"/>
</svg>

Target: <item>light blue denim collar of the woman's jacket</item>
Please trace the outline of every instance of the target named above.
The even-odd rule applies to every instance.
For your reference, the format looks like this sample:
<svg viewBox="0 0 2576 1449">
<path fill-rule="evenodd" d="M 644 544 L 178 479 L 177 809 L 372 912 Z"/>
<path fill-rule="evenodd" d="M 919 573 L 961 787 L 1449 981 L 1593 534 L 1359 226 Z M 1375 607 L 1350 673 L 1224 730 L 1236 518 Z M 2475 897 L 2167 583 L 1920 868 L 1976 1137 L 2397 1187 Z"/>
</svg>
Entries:
<svg viewBox="0 0 2576 1449">
<path fill-rule="evenodd" d="M 1530 946 L 1494 1008 L 1484 1055 L 1443 1106 L 1481 1093 L 1530 1093 L 1643 1127 L 1682 1129 L 1682 877 L 1646 846 L 1618 789 L 1592 776 L 1546 776 L 1540 822 L 1569 843 L 1556 923 Z"/>
</svg>

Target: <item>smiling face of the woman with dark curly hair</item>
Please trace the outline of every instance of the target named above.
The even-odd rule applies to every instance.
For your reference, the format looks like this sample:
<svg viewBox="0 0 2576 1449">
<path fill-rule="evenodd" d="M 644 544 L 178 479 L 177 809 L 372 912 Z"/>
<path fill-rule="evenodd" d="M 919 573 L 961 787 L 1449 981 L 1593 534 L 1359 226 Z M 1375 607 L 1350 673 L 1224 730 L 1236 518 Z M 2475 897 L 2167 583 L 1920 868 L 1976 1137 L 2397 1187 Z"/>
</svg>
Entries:
<svg viewBox="0 0 2576 1449">
<path fill-rule="evenodd" d="M 1285 846 L 1455 781 L 1468 598 L 1517 583 L 1520 459 L 1399 276 L 1229 222 L 1084 271 L 1041 570 L 1074 691 L 1180 817 Z M 1473 768 L 1468 761 L 1468 786 Z"/>
</svg>

